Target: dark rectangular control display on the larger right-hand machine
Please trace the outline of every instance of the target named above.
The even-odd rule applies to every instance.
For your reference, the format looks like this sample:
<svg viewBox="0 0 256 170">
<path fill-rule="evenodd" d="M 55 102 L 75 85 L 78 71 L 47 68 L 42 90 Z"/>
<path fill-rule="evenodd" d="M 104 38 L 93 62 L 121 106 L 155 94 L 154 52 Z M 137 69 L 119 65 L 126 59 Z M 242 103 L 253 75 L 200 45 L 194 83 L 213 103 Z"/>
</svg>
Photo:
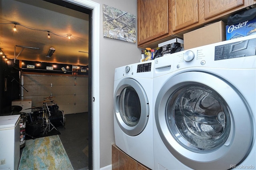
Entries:
<svg viewBox="0 0 256 170">
<path fill-rule="evenodd" d="M 256 55 L 256 38 L 215 46 L 214 60 Z"/>
</svg>

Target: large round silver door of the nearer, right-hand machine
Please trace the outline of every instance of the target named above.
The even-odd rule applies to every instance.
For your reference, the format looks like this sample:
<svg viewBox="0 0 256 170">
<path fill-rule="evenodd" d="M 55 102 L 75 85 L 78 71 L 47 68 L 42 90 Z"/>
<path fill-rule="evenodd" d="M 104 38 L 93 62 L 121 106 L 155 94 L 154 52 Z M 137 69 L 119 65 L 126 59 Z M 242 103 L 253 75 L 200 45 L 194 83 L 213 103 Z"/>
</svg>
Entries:
<svg viewBox="0 0 256 170">
<path fill-rule="evenodd" d="M 170 78 L 155 104 L 162 141 L 193 169 L 230 169 L 248 154 L 253 126 L 239 92 L 204 72 Z"/>
</svg>

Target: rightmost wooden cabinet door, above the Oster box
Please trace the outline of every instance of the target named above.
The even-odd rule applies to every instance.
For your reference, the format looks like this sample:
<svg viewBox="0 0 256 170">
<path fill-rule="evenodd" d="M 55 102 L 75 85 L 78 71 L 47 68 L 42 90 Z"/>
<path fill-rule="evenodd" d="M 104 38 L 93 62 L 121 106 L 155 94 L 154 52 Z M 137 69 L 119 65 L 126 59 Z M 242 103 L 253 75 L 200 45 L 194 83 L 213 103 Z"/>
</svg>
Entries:
<svg viewBox="0 0 256 170">
<path fill-rule="evenodd" d="M 204 18 L 216 16 L 244 4 L 244 0 L 204 0 Z"/>
</svg>

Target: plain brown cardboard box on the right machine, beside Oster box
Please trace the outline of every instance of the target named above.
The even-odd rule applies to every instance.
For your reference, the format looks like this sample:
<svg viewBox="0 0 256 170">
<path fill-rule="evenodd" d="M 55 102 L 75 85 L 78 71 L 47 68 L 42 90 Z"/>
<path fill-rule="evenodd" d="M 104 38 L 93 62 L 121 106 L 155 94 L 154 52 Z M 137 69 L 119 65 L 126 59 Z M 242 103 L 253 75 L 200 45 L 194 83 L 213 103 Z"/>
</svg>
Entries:
<svg viewBox="0 0 256 170">
<path fill-rule="evenodd" d="M 184 50 L 225 41 L 225 26 L 224 22 L 219 21 L 184 34 Z"/>
</svg>

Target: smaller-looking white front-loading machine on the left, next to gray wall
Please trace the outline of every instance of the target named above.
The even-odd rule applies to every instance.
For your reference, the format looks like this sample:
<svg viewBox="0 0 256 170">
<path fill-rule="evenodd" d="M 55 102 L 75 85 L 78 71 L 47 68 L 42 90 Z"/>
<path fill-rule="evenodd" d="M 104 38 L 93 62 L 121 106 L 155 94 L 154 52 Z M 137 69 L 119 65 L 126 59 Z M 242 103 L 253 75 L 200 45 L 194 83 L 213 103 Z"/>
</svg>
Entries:
<svg viewBox="0 0 256 170">
<path fill-rule="evenodd" d="M 116 68 L 114 77 L 114 135 L 116 146 L 154 169 L 154 61 Z"/>
</svg>

